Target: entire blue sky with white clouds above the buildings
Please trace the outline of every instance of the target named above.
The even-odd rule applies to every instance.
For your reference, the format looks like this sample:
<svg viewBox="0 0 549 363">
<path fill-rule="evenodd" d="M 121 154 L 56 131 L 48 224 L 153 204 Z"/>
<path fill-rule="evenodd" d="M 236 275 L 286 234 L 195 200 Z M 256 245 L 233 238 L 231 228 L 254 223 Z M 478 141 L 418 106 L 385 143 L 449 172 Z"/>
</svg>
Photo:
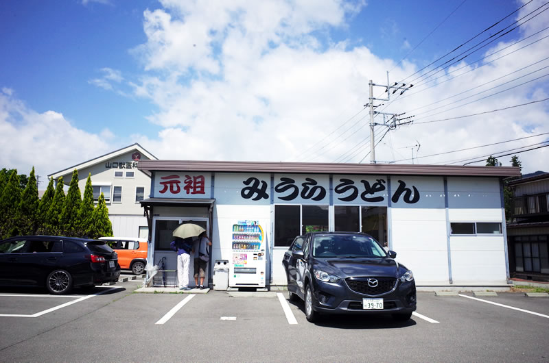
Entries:
<svg viewBox="0 0 549 363">
<path fill-rule="evenodd" d="M 1 1 L 0 130 L 16 142 L 3 143 L 0 163 L 21 173 L 34 165 L 47 175 L 134 142 L 166 159 L 359 162 L 369 150 L 369 141 L 361 141 L 368 136 L 367 119 L 352 116 L 367 102 L 368 79 L 384 83 L 386 71 L 391 82 L 404 79 L 527 2 Z M 528 3 L 494 29 L 543 4 Z M 457 74 L 490 58 L 473 60 L 544 29 L 548 19 L 549 11 L 471 55 Z M 473 44 L 476 40 L 468 46 Z M 522 74 L 535 71 L 549 64 L 543 61 L 546 49 L 549 42 L 540 40 L 421 96 L 395 101 L 385 112 L 429 109 L 460 90 L 472 95 L 467 90 L 476 85 L 495 86 L 492 80 L 520 68 L 529 67 Z M 449 71 L 439 75 L 449 77 Z M 546 94 L 541 77 L 440 117 Z M 405 159 L 416 144 L 421 149 L 415 155 L 426 156 L 532 136 L 512 145 L 425 157 L 422 164 L 526 147 L 547 140 L 534 138 L 549 132 L 547 112 L 545 103 L 535 103 L 470 122 L 401 127 L 376 148 L 377 160 Z M 357 153 L 348 153 L 355 145 Z M 74 148 L 77 153 L 68 152 Z M 526 172 L 546 166 L 539 162 L 546 160 L 545 150 L 517 154 Z M 501 161 L 509 164 L 510 158 Z"/>
</svg>

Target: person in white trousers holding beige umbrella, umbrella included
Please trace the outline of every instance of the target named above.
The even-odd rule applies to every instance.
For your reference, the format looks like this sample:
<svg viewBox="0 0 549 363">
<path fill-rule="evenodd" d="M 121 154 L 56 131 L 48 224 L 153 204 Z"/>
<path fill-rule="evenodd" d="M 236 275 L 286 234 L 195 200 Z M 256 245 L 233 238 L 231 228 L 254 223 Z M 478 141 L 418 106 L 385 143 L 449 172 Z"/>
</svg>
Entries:
<svg viewBox="0 0 549 363">
<path fill-rule="evenodd" d="M 170 246 L 177 252 L 177 279 L 179 290 L 191 290 L 189 288 L 189 263 L 192 249 L 192 238 L 198 237 L 205 229 L 193 223 L 178 225 L 172 236 L 175 239 Z"/>
</svg>

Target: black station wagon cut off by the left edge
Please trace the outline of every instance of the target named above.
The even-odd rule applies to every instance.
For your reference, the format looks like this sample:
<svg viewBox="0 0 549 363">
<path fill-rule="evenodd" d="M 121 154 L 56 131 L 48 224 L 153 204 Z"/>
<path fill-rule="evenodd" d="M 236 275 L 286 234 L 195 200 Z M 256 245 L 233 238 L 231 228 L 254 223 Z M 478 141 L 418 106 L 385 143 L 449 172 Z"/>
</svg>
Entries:
<svg viewBox="0 0 549 363">
<path fill-rule="evenodd" d="M 54 295 L 77 286 L 118 281 L 115 251 L 104 241 L 62 236 L 18 236 L 0 241 L 2 286 L 45 286 Z"/>
</svg>

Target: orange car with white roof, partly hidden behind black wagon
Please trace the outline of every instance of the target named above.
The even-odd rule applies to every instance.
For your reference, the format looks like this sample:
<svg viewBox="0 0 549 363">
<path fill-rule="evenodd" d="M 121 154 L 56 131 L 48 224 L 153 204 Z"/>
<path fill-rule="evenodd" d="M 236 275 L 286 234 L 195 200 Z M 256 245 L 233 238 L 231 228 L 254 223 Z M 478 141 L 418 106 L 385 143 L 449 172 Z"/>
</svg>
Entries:
<svg viewBox="0 0 549 363">
<path fill-rule="evenodd" d="M 149 244 L 145 238 L 100 237 L 118 253 L 120 268 L 130 269 L 134 275 L 141 275 L 147 266 Z"/>
</svg>

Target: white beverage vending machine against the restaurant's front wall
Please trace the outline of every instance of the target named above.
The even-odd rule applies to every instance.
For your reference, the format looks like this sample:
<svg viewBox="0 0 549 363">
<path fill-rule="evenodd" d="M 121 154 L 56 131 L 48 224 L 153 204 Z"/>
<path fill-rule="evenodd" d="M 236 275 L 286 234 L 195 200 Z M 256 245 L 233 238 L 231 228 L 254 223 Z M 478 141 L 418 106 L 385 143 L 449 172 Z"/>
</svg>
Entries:
<svg viewBox="0 0 549 363">
<path fill-rule="evenodd" d="M 259 221 L 237 221 L 233 224 L 232 261 L 229 287 L 265 287 L 266 238 Z"/>
</svg>

